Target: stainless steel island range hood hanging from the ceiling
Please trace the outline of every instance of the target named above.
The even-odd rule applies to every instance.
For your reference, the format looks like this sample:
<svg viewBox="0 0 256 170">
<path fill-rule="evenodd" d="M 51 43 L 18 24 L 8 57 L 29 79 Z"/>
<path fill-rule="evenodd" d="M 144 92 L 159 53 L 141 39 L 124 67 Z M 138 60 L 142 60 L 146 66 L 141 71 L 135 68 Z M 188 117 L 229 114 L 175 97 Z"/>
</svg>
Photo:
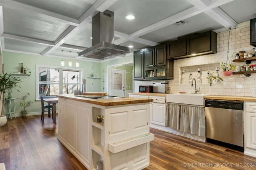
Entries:
<svg viewBox="0 0 256 170">
<path fill-rule="evenodd" d="M 106 10 L 92 18 L 92 47 L 78 56 L 103 60 L 130 52 L 129 47 L 114 44 L 114 12 Z"/>
</svg>

